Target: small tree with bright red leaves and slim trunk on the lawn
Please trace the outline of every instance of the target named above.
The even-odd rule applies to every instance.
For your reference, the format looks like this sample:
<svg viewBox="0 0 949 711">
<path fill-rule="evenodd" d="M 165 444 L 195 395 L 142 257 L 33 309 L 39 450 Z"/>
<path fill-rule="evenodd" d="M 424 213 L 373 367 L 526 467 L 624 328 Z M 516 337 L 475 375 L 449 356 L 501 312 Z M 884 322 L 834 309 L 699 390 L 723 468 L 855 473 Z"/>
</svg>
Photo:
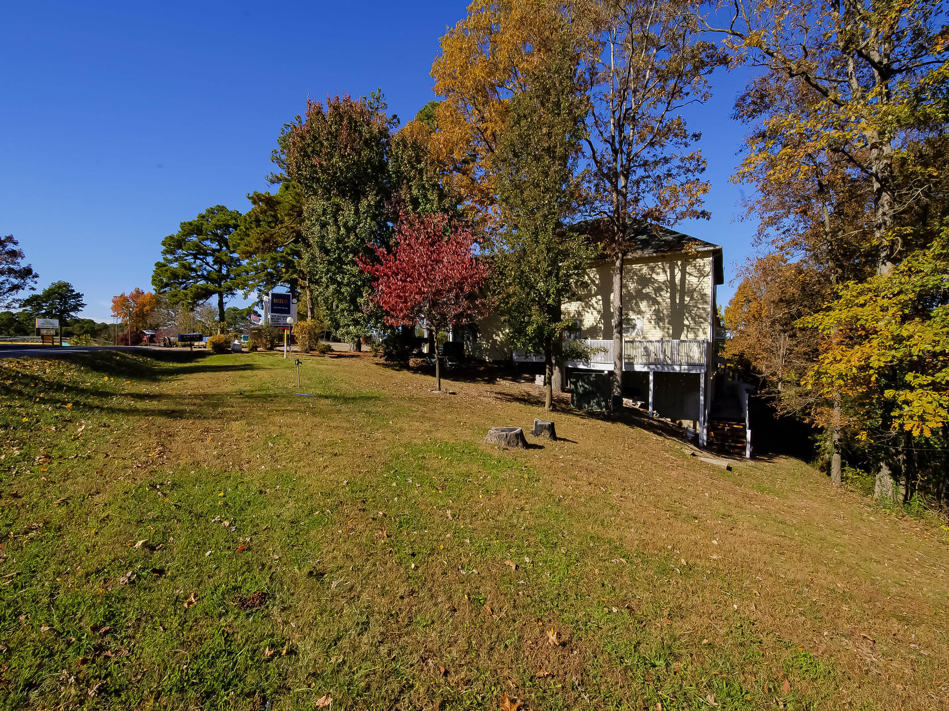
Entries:
<svg viewBox="0 0 949 711">
<path fill-rule="evenodd" d="M 488 265 L 474 254 L 471 229 L 446 214 L 403 214 L 396 247 L 376 247 L 378 262 L 360 258 L 363 271 L 375 278 L 372 301 L 390 326 L 423 321 L 435 334 L 474 319 L 482 302 L 478 290 Z M 441 390 L 441 365 L 435 349 L 435 383 Z"/>
</svg>

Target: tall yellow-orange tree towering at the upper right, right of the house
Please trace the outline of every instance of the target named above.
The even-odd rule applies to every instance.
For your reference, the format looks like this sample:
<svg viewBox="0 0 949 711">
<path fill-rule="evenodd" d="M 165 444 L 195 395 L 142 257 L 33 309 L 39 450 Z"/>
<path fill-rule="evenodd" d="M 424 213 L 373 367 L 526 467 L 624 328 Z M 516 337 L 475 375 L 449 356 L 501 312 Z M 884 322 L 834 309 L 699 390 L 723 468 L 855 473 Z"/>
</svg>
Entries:
<svg viewBox="0 0 949 711">
<path fill-rule="evenodd" d="M 796 310 L 836 310 L 846 306 L 834 303 L 842 285 L 884 273 L 926 244 L 914 223 L 940 191 L 932 148 L 945 116 L 937 4 L 742 0 L 730 7 L 731 22 L 714 29 L 736 62 L 759 70 L 735 104 L 735 117 L 752 128 L 735 179 L 754 185 L 749 207 L 765 246 L 818 275 L 819 288 Z M 806 322 L 791 330 L 807 330 Z M 828 335 L 825 344 L 834 340 Z M 836 484 L 852 421 L 847 397 L 805 389 L 794 398 L 827 428 Z M 884 479 L 887 470 L 883 461 Z"/>
</svg>

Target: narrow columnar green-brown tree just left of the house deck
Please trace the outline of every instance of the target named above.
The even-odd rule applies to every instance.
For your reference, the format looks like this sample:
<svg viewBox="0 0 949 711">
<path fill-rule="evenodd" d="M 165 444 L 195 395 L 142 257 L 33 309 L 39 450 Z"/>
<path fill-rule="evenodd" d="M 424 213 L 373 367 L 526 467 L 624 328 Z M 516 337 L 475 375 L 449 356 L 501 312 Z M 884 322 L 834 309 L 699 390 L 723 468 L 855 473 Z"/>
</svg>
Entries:
<svg viewBox="0 0 949 711">
<path fill-rule="evenodd" d="M 556 39 L 535 48 L 526 87 L 507 100 L 493 159 L 498 224 L 490 240 L 493 312 L 513 348 L 544 355 L 546 410 L 573 325 L 561 307 L 585 284 L 594 256 L 586 235 L 568 228 L 584 201 L 578 162 L 586 104 L 568 28 Z"/>
</svg>

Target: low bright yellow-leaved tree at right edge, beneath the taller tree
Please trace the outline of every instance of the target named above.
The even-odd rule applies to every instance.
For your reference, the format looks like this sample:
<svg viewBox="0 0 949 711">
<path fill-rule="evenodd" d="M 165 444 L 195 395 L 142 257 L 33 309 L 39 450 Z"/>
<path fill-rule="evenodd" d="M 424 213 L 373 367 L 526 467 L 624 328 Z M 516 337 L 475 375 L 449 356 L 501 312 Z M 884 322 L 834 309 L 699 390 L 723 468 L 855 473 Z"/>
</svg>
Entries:
<svg viewBox="0 0 949 711">
<path fill-rule="evenodd" d="M 930 246 L 865 282 L 842 284 L 828 308 L 804 319 L 826 339 L 805 385 L 847 396 L 845 424 L 901 476 L 903 502 L 922 483 L 941 504 L 949 482 L 949 221 L 943 225 Z M 894 496 L 888 477 L 876 488 L 878 497 Z"/>
</svg>

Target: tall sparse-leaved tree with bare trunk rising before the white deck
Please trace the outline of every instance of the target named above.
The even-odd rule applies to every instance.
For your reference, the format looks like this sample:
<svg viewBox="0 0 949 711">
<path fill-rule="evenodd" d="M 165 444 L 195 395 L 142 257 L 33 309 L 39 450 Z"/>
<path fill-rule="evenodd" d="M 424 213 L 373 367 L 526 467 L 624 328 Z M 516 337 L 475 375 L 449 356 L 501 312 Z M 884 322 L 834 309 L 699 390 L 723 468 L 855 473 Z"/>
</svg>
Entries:
<svg viewBox="0 0 949 711">
<path fill-rule="evenodd" d="M 701 38 L 689 0 L 589 3 L 586 139 L 593 191 L 605 217 L 601 247 L 612 260 L 613 405 L 623 406 L 623 257 L 642 222 L 708 219 L 705 159 L 681 111 L 710 97 L 707 77 L 726 62 Z"/>
</svg>

